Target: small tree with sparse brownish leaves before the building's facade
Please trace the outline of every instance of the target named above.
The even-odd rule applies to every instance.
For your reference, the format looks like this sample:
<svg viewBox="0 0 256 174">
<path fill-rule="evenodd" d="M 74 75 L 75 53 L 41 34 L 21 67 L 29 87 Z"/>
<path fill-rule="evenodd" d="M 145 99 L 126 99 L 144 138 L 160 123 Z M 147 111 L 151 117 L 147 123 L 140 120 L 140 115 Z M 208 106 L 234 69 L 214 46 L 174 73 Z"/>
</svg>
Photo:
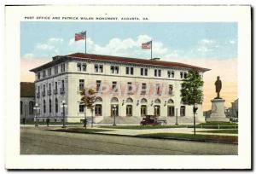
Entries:
<svg viewBox="0 0 256 174">
<path fill-rule="evenodd" d="M 96 92 L 92 89 L 84 89 L 80 92 L 80 95 L 82 96 L 81 98 L 81 104 L 84 104 L 84 109 L 89 108 L 90 109 L 90 113 L 91 113 L 91 127 L 93 127 L 93 111 L 94 111 L 94 103 L 96 102 L 96 96 L 95 96 Z M 84 118 L 86 121 L 86 118 Z M 86 127 L 85 123 L 85 127 Z"/>
</svg>

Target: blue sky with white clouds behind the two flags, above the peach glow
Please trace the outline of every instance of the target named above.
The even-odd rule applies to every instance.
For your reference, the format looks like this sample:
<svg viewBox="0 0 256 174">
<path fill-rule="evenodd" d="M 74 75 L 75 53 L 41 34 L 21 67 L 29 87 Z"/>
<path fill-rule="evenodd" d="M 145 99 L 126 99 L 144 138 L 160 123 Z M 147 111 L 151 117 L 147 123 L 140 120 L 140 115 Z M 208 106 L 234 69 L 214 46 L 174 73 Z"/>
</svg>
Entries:
<svg viewBox="0 0 256 174">
<path fill-rule="evenodd" d="M 169 58 L 236 59 L 236 23 L 160 22 L 21 22 L 20 55 L 48 57 L 84 52 L 74 33 L 87 31 L 87 52 L 149 57 L 140 48 L 153 39 L 153 56 Z"/>
</svg>

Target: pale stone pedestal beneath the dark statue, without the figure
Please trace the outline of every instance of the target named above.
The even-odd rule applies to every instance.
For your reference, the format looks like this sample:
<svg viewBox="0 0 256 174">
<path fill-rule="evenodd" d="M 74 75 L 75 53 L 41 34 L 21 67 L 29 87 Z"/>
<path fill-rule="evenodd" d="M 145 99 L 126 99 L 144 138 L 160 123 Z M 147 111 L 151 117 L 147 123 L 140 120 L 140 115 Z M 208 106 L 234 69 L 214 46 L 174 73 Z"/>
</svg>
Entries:
<svg viewBox="0 0 256 174">
<path fill-rule="evenodd" d="M 212 113 L 207 122 L 220 121 L 220 122 L 230 122 L 230 119 L 226 118 L 224 113 L 224 102 L 223 99 L 213 99 L 212 101 Z"/>
</svg>

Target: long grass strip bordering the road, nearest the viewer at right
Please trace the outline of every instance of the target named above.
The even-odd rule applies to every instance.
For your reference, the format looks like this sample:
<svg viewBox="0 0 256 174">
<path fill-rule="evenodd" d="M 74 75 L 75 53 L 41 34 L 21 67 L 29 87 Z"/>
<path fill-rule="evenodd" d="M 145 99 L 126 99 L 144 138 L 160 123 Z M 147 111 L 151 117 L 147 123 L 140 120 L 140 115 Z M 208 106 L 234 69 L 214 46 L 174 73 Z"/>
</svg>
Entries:
<svg viewBox="0 0 256 174">
<path fill-rule="evenodd" d="M 153 133 L 153 134 L 142 134 L 139 136 L 149 136 L 149 137 L 162 137 L 162 138 L 177 138 L 183 140 L 195 140 L 203 142 L 232 142 L 237 143 L 237 136 L 215 136 L 215 135 L 199 135 L 196 134 L 182 134 L 182 133 Z"/>
</svg>

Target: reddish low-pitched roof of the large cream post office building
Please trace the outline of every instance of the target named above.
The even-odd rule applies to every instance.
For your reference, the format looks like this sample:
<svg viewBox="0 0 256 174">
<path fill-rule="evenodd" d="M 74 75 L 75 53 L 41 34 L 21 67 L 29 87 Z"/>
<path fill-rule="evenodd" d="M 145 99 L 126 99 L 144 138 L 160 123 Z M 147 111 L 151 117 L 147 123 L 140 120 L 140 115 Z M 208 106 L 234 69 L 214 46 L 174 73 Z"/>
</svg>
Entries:
<svg viewBox="0 0 256 174">
<path fill-rule="evenodd" d="M 55 56 L 56 57 L 56 56 Z M 113 61 L 113 62 L 121 62 L 121 63 L 131 63 L 137 65 L 149 65 L 149 66 L 159 66 L 159 67 L 178 67 L 178 68 L 189 68 L 196 69 L 201 72 L 209 71 L 210 69 L 204 67 L 196 67 L 189 64 L 172 62 L 172 61 L 159 61 L 159 60 L 148 60 L 148 59 L 137 59 L 137 58 L 129 58 L 129 57 L 121 57 L 121 56 L 113 56 L 113 55 L 94 55 L 94 54 L 84 54 L 84 53 L 74 53 L 71 55 L 63 55 L 59 56 L 59 59 L 55 61 L 50 61 L 40 67 L 36 67 L 32 69 L 32 72 L 40 71 L 44 68 L 51 67 L 61 61 L 72 60 L 72 59 L 84 59 L 89 61 Z"/>
</svg>

